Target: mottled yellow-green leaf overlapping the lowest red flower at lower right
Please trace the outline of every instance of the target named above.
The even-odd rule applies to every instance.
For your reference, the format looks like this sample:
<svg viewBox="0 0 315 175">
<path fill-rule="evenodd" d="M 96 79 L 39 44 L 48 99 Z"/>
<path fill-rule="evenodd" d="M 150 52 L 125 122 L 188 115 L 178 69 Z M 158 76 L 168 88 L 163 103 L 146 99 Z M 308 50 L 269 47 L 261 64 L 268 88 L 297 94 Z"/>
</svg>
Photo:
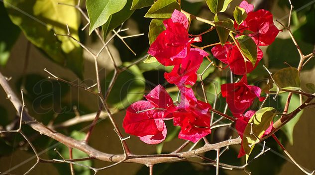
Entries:
<svg viewBox="0 0 315 175">
<path fill-rule="evenodd" d="M 271 122 L 278 114 L 278 111 L 273 107 L 264 107 L 256 111 L 254 116 L 250 118 L 244 130 L 242 146 L 246 153 L 246 163 L 249 155 L 252 152 L 256 143 L 259 142 L 266 129 L 271 125 Z M 257 138 L 258 137 L 258 138 Z"/>
</svg>

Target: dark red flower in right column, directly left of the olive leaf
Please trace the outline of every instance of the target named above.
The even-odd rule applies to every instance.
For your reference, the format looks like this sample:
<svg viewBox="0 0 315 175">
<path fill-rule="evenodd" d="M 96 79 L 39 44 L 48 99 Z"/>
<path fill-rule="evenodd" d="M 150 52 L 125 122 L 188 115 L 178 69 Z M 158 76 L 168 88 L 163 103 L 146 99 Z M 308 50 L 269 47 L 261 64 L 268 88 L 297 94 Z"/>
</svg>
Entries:
<svg viewBox="0 0 315 175">
<path fill-rule="evenodd" d="M 226 99 L 226 103 L 230 111 L 235 117 L 243 114 L 249 108 L 254 99 L 260 97 L 261 89 L 256 86 L 247 85 L 247 78 L 243 76 L 240 82 L 221 85 L 222 96 Z"/>
</svg>

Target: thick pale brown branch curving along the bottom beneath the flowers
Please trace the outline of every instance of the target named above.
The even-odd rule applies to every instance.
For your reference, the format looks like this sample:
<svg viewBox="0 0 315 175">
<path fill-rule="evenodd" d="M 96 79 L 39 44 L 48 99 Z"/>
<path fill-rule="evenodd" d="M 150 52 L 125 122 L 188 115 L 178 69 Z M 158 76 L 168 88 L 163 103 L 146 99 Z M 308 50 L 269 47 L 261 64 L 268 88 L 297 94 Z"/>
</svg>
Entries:
<svg viewBox="0 0 315 175">
<path fill-rule="evenodd" d="M 11 87 L 8 85 L 6 78 L 0 73 L 0 86 L 4 89 L 5 93 L 7 94 L 7 98 L 11 101 L 13 106 L 17 111 L 21 111 L 22 103 L 20 99 L 16 96 L 13 92 Z M 28 124 L 31 128 L 38 131 L 40 134 L 46 135 L 70 148 L 75 148 L 80 151 L 87 153 L 91 158 L 95 158 L 101 161 L 106 162 L 120 162 L 125 159 L 124 154 L 120 155 L 113 155 L 98 151 L 91 146 L 87 145 L 84 141 L 78 141 L 71 137 L 65 136 L 59 132 L 54 131 L 43 125 L 42 123 L 36 121 L 33 117 L 31 117 L 27 110 L 23 110 L 22 113 L 22 121 Z M 174 161 L 181 161 L 183 159 L 188 158 L 196 158 L 199 157 L 198 155 L 208 152 L 210 150 L 216 150 L 219 148 L 226 147 L 228 145 L 237 145 L 241 143 L 241 139 L 238 137 L 236 139 L 230 139 L 223 142 L 219 142 L 216 144 L 206 144 L 205 146 L 193 150 L 187 151 L 183 153 L 176 153 L 176 154 L 169 154 L 169 155 L 130 155 L 128 159 L 124 162 L 130 163 L 139 163 L 143 165 L 154 165 L 159 163 L 166 163 L 166 162 L 174 162 Z"/>
</svg>

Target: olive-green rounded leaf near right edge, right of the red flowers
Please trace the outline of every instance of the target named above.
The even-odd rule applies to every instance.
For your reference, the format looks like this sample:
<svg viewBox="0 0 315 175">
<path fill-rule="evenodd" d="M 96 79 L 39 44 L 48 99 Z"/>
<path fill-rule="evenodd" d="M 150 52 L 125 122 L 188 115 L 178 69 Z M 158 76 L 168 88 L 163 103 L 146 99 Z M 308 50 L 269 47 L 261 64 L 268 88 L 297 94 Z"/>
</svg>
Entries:
<svg viewBox="0 0 315 175">
<path fill-rule="evenodd" d="M 273 75 L 275 83 L 281 88 L 300 89 L 301 80 L 297 68 L 284 68 Z"/>
</svg>

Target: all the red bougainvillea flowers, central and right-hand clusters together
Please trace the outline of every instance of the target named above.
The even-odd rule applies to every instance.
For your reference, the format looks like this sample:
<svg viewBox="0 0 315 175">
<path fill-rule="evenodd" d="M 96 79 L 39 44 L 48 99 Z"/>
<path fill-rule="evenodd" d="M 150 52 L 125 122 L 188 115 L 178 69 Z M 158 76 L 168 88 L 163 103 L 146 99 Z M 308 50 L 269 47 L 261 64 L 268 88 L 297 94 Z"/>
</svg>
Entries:
<svg viewBox="0 0 315 175">
<path fill-rule="evenodd" d="M 235 127 L 242 138 L 249 119 L 255 114 L 255 111 L 245 111 L 256 98 L 260 101 L 264 99 L 260 97 L 259 87 L 248 85 L 247 74 L 256 68 L 263 57 L 259 47 L 270 45 L 279 30 L 274 26 L 269 11 L 253 11 L 253 5 L 245 0 L 239 6 L 245 9 L 247 17 L 241 24 L 234 22 L 234 33 L 236 37 L 247 35 L 256 43 L 255 63 L 245 58 L 236 40 L 223 46 L 216 45 L 211 52 L 215 58 L 227 64 L 233 74 L 242 76 L 239 82 L 221 85 L 221 94 L 236 118 Z M 196 83 L 197 70 L 209 54 L 200 48 L 191 48 L 191 44 L 201 42 L 202 37 L 190 37 L 189 21 L 185 14 L 175 9 L 172 17 L 163 23 L 166 30 L 158 35 L 148 53 L 162 65 L 174 66 L 171 72 L 164 73 L 164 78 L 179 88 L 181 100 L 175 105 L 165 88 L 158 85 L 145 95 L 146 101 L 137 101 L 127 108 L 123 128 L 126 133 L 138 136 L 147 144 L 158 144 L 165 140 L 167 134 L 164 120 L 173 120 L 174 126 L 181 127 L 178 137 L 196 143 L 211 133 L 211 105 L 198 100 L 192 88 L 186 86 Z M 271 129 L 269 127 L 265 134 L 270 133 Z M 244 150 L 241 148 L 239 157 L 242 155 Z"/>
</svg>

